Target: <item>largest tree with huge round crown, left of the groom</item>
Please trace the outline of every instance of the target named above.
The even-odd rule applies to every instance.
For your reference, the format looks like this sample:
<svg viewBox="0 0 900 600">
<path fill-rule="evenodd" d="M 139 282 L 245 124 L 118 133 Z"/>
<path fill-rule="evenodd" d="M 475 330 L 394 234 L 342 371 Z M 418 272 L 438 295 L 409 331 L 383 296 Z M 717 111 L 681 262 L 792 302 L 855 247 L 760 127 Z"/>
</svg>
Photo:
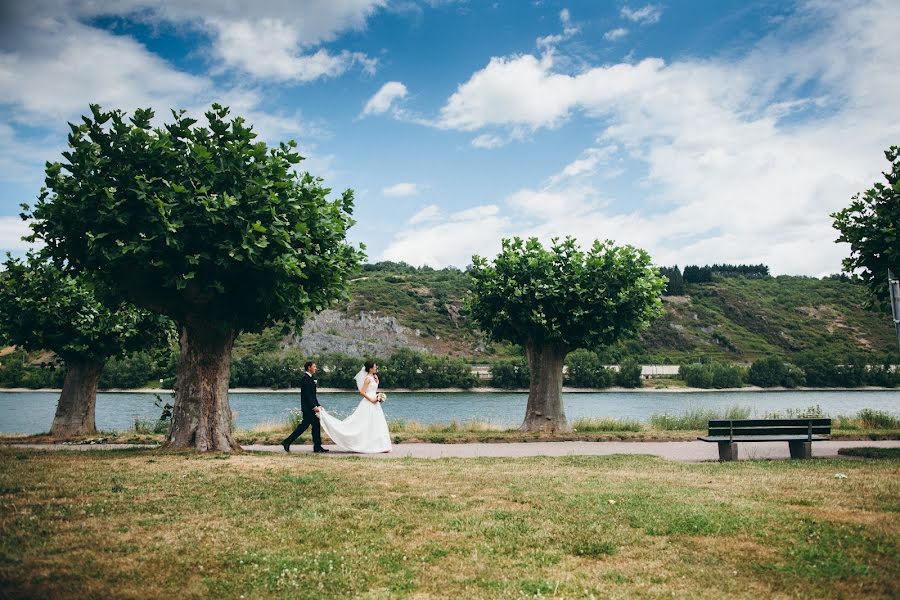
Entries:
<svg viewBox="0 0 900 600">
<path fill-rule="evenodd" d="M 154 129 L 149 109 L 126 120 L 92 105 L 30 215 L 50 256 L 177 324 L 168 448 L 239 449 L 235 337 L 276 321 L 299 328 L 308 311 L 346 298 L 362 257 L 346 242 L 353 192 L 329 200 L 321 178 L 297 172 L 295 142 L 270 149 L 228 114 L 214 104 L 202 127 L 173 111 Z"/>
</svg>

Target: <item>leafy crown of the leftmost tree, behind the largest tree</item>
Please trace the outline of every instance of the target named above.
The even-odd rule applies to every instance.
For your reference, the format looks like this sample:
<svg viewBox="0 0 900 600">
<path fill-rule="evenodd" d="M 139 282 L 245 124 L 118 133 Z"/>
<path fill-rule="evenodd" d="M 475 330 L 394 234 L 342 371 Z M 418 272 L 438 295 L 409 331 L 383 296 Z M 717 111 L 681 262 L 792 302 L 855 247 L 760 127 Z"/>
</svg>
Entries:
<svg viewBox="0 0 900 600">
<path fill-rule="evenodd" d="M 4 269 L 0 330 L 28 350 L 51 350 L 65 361 L 104 361 L 164 344 L 172 335 L 167 319 L 125 303 L 103 303 L 88 281 L 35 255 L 7 255 Z"/>
</svg>

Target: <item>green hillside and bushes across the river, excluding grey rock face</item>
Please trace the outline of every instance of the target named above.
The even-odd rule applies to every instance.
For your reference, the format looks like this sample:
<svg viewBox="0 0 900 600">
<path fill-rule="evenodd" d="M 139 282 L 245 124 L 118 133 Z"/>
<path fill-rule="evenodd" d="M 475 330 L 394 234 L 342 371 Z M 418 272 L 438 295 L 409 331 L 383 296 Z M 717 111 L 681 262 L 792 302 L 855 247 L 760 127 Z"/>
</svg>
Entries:
<svg viewBox="0 0 900 600">
<path fill-rule="evenodd" d="M 670 278 L 672 271 L 664 269 Z M 691 387 L 898 384 L 898 374 L 885 366 L 900 363 L 889 312 L 863 307 L 864 286 L 841 277 L 769 277 L 766 272 L 729 275 L 727 270 L 685 268 L 689 281 L 682 279 L 683 295 L 664 296 L 662 317 L 638 338 L 571 353 L 566 385 L 635 387 L 639 378 L 617 377 L 606 366 L 630 365 L 633 370 L 639 363 L 681 364 L 681 380 Z M 487 342 L 469 320 L 463 303 L 468 285 L 466 274 L 457 269 L 363 266 L 363 274 L 350 282 L 344 314 L 390 315 L 410 332 L 418 331 L 416 343 L 428 350 L 376 357 L 386 367 L 386 385 L 469 388 L 478 384 L 467 368 L 475 361 L 490 365 L 496 387 L 528 387 L 527 363 L 518 347 Z M 292 347 L 290 337 L 279 327 L 239 336 L 232 354 L 232 387 L 294 387 L 310 357 Z M 350 385 L 360 360 L 327 351 L 311 358 L 329 366 L 319 373 L 320 385 L 338 388 Z M 395 369 L 390 369 L 392 359 Z M 114 357 L 99 387 L 160 387 L 160 379 L 162 387 L 171 387 L 176 364 L 176 348 Z M 749 370 L 743 366 L 750 364 Z M 8 348 L 0 356 L 2 387 L 58 388 L 63 376 L 49 352 Z"/>
</svg>

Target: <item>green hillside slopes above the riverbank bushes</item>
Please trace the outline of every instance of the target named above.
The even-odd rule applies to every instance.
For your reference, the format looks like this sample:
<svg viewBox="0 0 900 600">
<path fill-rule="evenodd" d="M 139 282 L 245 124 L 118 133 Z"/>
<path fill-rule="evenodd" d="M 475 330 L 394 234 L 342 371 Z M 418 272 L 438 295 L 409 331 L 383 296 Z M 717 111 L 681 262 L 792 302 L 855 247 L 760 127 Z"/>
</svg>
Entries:
<svg viewBox="0 0 900 600">
<path fill-rule="evenodd" d="M 436 354 L 473 359 L 516 352 L 487 343 L 464 307 L 468 279 L 458 269 L 367 265 L 351 282 L 348 315 L 372 311 L 395 317 Z M 776 354 L 842 356 L 886 354 L 900 362 L 890 315 L 863 307 L 865 289 L 834 278 L 780 276 L 716 278 L 686 285 L 684 296 L 664 298 L 665 314 L 641 337 L 602 349 L 609 360 L 627 356 L 679 363 L 710 357 L 751 362 Z"/>
</svg>

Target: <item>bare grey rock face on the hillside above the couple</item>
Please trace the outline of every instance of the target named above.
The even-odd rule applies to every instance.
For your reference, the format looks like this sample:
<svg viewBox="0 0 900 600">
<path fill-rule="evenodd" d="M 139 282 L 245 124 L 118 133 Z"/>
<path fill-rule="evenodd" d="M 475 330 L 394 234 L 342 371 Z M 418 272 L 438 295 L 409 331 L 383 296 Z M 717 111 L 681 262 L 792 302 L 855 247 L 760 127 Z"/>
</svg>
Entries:
<svg viewBox="0 0 900 600">
<path fill-rule="evenodd" d="M 325 310 L 312 316 L 303 326 L 302 335 L 285 339 L 288 348 L 299 348 L 307 356 L 337 352 L 350 356 L 386 356 L 398 348 L 428 352 L 415 331 L 401 325 L 396 318 L 361 311 L 348 314 Z"/>
</svg>

